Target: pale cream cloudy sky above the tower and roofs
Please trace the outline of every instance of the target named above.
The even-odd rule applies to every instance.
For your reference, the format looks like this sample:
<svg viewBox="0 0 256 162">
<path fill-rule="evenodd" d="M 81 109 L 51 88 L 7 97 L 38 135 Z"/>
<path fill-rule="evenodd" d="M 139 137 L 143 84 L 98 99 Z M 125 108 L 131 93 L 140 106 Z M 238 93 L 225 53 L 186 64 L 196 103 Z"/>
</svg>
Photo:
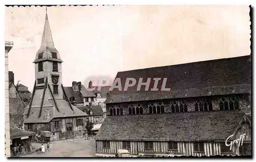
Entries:
<svg viewBox="0 0 256 162">
<path fill-rule="evenodd" d="M 6 7 L 9 71 L 33 90 L 46 7 Z M 47 7 L 63 86 L 118 71 L 250 55 L 248 6 Z"/>
</svg>

